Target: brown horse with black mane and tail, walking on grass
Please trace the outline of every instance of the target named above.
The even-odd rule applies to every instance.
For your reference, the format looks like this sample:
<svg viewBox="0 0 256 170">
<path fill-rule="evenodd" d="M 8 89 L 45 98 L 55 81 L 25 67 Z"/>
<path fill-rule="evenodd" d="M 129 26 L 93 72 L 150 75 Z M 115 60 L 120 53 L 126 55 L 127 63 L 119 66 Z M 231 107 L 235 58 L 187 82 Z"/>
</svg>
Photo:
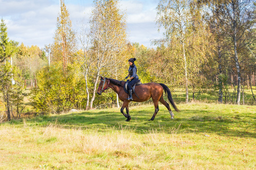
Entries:
<svg viewBox="0 0 256 170">
<path fill-rule="evenodd" d="M 123 86 L 125 86 L 125 83 L 126 82 L 115 80 L 115 79 L 104 78 L 101 76 L 101 82 L 98 86 L 97 94 L 101 95 L 101 93 L 104 92 L 105 90 L 108 90 L 108 88 L 112 88 L 112 90 L 118 94 L 119 99 L 123 101 L 121 113 L 123 114 L 123 116 L 127 118 L 126 121 L 130 121 L 131 120 L 131 116 L 129 114 L 130 100 L 127 100 L 128 94 L 126 94 L 125 90 L 123 89 Z M 171 91 L 165 84 L 145 83 L 135 87 L 135 93 L 137 95 L 133 94 L 133 101 L 143 102 L 143 101 L 147 101 L 152 97 L 152 100 L 155 106 L 155 113 L 153 114 L 152 118 L 149 121 L 153 121 L 155 119 L 156 114 L 159 111 L 158 101 L 160 101 L 163 105 L 166 106 L 166 108 L 170 112 L 171 118 L 174 118 L 174 113 L 172 113 L 170 105 L 163 99 L 163 91 L 167 93 L 168 100 L 172 104 L 172 107 L 174 107 L 175 111 L 179 112 L 179 109 L 177 109 L 174 103 L 174 100 L 172 100 Z M 125 108 L 126 108 L 126 114 L 123 112 L 123 109 Z"/>
</svg>

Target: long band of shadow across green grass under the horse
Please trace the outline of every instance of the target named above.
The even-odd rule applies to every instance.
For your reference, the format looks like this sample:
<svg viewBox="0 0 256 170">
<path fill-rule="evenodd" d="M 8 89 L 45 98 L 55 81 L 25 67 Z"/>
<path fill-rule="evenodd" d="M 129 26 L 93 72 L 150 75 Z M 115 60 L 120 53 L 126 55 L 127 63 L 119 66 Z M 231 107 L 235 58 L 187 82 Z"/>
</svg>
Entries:
<svg viewBox="0 0 256 170">
<path fill-rule="evenodd" d="M 112 109 L 113 110 L 113 109 Z M 131 111 L 131 121 L 117 111 L 86 111 L 57 116 L 38 116 L 27 120 L 28 124 L 47 126 L 57 123 L 61 128 L 96 129 L 106 131 L 114 129 L 131 129 L 135 133 L 204 133 L 218 134 L 229 137 L 256 138 L 254 114 L 224 114 L 213 113 L 207 110 L 184 110 L 175 113 L 171 120 L 168 111 L 159 111 L 154 121 L 148 121 L 153 111 L 150 109 Z M 22 121 L 16 122 L 22 124 Z"/>
</svg>

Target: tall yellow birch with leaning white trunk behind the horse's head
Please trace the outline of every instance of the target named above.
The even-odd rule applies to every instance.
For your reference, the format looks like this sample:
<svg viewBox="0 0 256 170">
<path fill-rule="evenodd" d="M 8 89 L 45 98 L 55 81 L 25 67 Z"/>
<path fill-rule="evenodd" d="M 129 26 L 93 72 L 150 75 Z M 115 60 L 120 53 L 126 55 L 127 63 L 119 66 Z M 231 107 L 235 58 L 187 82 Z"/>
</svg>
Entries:
<svg viewBox="0 0 256 170">
<path fill-rule="evenodd" d="M 96 79 L 90 108 L 96 94 L 98 79 L 104 68 L 117 68 L 124 59 L 121 54 L 126 49 L 125 16 L 118 8 L 118 0 L 96 0 L 90 20 L 90 40 L 93 56 L 96 57 Z M 118 68 L 117 68 L 118 69 Z M 114 73 L 117 75 L 117 69 Z M 113 73 L 113 72 L 112 72 Z"/>
</svg>

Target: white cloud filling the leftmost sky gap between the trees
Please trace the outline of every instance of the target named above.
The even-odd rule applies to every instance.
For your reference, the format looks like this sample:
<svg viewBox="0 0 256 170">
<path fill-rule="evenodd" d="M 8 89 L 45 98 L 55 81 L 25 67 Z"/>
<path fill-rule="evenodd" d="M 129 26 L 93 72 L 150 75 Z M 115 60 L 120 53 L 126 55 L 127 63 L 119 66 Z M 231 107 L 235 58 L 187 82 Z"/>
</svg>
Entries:
<svg viewBox="0 0 256 170">
<path fill-rule="evenodd" d="M 11 40 L 43 48 L 45 44 L 52 42 L 59 6 L 50 4 L 46 6 L 45 3 L 41 3 L 43 1 L 37 1 L 38 4 L 34 2 L 9 1 L 5 5 L 13 13 L 11 15 L 5 13 L 7 19 L 4 16 L 3 19 L 5 19 Z M 16 6 L 23 10 L 16 11 Z"/>
</svg>

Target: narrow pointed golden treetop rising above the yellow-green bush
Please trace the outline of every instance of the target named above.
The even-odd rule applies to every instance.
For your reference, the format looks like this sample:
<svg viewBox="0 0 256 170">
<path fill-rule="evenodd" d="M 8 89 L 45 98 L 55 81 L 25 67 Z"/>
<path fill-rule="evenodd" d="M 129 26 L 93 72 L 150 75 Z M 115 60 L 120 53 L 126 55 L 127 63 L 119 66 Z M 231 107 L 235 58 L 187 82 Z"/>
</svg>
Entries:
<svg viewBox="0 0 256 170">
<path fill-rule="evenodd" d="M 75 33 L 69 20 L 68 10 L 64 0 L 60 0 L 60 16 L 57 18 L 57 29 L 52 46 L 52 59 L 63 63 L 63 71 L 67 70 L 69 62 L 73 62 L 73 49 L 75 47 Z"/>
</svg>

